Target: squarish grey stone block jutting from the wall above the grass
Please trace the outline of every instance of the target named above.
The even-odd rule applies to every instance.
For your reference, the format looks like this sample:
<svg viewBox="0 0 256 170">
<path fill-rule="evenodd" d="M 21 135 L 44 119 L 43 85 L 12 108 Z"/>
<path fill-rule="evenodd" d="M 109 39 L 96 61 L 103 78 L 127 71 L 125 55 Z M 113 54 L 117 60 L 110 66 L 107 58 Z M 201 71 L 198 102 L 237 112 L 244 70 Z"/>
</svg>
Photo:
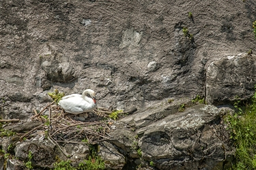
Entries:
<svg viewBox="0 0 256 170">
<path fill-rule="evenodd" d="M 223 104 L 249 99 L 256 84 L 255 56 L 241 53 L 212 62 L 206 73 L 206 101 Z"/>
</svg>

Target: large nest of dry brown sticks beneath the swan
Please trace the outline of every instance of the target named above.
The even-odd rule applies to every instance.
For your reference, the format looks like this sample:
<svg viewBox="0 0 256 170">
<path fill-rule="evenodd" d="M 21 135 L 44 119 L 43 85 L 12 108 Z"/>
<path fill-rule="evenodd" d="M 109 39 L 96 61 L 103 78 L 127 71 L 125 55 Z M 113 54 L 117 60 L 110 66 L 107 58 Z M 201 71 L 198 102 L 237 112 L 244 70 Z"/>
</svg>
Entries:
<svg viewBox="0 0 256 170">
<path fill-rule="evenodd" d="M 94 109 L 83 122 L 76 120 L 75 115 L 66 114 L 61 107 L 55 105 L 54 101 L 46 105 L 40 113 L 36 110 L 34 113 L 35 115 L 31 116 L 31 120 L 40 122 L 40 124 L 27 133 L 20 134 L 20 141 L 29 138 L 33 140 L 33 138 L 38 137 L 40 140 L 48 139 L 51 143 L 59 146 L 63 143 L 96 144 L 106 139 L 113 139 L 109 135 L 113 120 L 108 118 L 108 114 L 111 113 L 108 109 Z M 17 121 L 2 120 L 2 122 Z M 59 148 L 61 150 L 61 147 Z M 65 153 L 63 152 L 63 154 Z"/>
</svg>

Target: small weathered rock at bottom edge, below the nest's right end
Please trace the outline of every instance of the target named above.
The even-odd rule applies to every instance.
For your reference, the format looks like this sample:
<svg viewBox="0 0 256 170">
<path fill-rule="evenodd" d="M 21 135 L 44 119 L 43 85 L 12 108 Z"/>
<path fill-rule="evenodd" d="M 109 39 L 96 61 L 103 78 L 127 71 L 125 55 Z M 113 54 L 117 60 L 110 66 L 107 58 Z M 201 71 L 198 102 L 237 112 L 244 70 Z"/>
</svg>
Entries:
<svg viewBox="0 0 256 170">
<path fill-rule="evenodd" d="M 104 160 L 106 169 L 122 169 L 126 163 L 126 158 L 113 144 L 103 141 L 99 143 L 98 155 Z"/>
</svg>

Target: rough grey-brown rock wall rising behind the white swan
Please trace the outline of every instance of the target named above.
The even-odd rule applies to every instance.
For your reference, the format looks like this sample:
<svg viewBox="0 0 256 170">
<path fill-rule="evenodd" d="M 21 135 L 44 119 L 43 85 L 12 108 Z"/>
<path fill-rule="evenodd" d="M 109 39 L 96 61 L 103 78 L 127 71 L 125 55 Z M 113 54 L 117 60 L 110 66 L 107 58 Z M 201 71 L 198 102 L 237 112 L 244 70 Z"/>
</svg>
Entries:
<svg viewBox="0 0 256 170">
<path fill-rule="evenodd" d="M 67 95 L 92 88 L 100 106 L 119 109 L 205 96 L 212 61 L 255 48 L 255 5 L 1 1 L 1 115 L 29 116 L 54 88 Z"/>
</svg>

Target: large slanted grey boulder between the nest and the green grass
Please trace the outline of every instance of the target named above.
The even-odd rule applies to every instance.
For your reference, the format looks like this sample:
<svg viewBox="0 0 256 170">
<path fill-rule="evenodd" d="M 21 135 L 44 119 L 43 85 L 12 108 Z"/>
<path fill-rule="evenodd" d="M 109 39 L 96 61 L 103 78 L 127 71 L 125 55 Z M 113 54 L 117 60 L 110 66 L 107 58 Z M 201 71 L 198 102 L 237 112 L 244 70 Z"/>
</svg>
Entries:
<svg viewBox="0 0 256 170">
<path fill-rule="evenodd" d="M 178 105 L 160 107 L 164 111 L 175 106 Z M 234 152 L 221 122 L 221 109 L 213 105 L 195 105 L 185 112 L 171 113 L 171 109 L 166 112 L 168 116 L 156 118 L 143 127 L 135 124 L 141 158 L 153 161 L 158 169 L 228 169 L 231 166 Z M 147 111 L 148 115 L 155 113 L 160 113 L 159 107 Z M 149 119 L 138 116 L 136 122 Z M 134 126 L 134 120 L 134 116 L 128 116 L 121 121 Z M 120 130 L 119 136 L 122 134 L 127 133 Z"/>
</svg>

